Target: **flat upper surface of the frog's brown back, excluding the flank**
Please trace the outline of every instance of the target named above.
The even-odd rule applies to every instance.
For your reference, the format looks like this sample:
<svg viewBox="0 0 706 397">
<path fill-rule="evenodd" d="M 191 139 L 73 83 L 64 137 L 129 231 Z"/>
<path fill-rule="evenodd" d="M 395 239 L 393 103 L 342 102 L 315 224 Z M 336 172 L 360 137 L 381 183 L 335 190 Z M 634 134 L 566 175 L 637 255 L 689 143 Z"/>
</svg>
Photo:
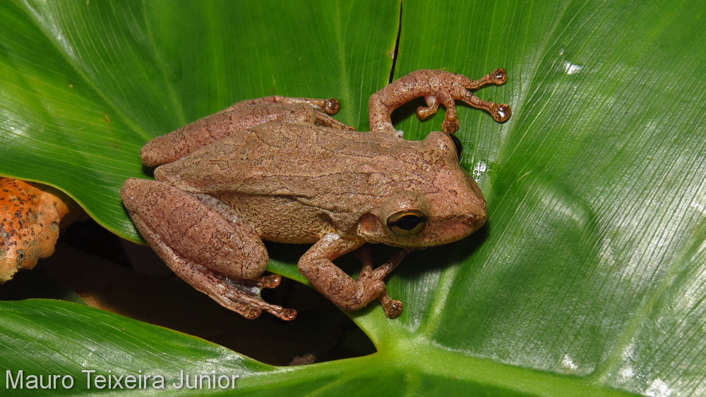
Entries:
<svg viewBox="0 0 706 397">
<path fill-rule="evenodd" d="M 192 193 L 385 196 L 419 185 L 419 142 L 381 133 L 266 123 L 160 166 L 155 176 Z M 423 171 L 423 170 L 422 170 Z"/>
</svg>

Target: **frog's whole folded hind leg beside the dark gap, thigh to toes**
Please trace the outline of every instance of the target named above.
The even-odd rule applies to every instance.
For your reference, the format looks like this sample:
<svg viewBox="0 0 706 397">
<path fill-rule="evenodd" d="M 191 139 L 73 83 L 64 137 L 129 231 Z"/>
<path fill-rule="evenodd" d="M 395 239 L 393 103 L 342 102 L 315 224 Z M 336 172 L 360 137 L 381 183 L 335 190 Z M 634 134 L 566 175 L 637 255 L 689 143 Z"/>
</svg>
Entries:
<svg viewBox="0 0 706 397">
<path fill-rule="evenodd" d="M 265 246 L 226 204 L 136 178 L 125 182 L 121 197 L 145 240 L 191 286 L 247 318 L 263 310 L 285 320 L 297 316 L 261 299 L 262 288 L 276 287 L 280 276 L 261 276 L 268 263 Z"/>
</svg>

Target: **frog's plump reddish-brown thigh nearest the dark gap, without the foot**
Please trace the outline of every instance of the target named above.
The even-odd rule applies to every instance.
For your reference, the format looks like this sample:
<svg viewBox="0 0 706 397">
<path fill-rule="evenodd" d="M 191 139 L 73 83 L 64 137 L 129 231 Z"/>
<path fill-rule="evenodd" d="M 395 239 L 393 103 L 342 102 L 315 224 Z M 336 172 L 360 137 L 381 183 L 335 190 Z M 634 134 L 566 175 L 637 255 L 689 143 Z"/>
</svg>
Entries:
<svg viewBox="0 0 706 397">
<path fill-rule="evenodd" d="M 255 279 L 265 271 L 262 240 L 232 209 L 228 213 L 214 202 L 205 204 L 171 185 L 143 179 L 128 179 L 121 196 L 140 233 L 167 254 L 162 259 L 177 273 L 183 269 L 175 267 L 189 262 L 238 279 Z"/>
</svg>

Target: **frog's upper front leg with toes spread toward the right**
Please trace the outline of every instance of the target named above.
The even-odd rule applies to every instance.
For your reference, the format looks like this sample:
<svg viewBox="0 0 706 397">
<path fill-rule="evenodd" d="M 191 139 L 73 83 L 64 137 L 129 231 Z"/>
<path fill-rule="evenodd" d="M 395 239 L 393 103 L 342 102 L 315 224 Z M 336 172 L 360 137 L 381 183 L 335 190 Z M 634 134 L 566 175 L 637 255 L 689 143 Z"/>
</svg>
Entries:
<svg viewBox="0 0 706 397">
<path fill-rule="evenodd" d="M 446 107 L 443 121 L 445 133 L 455 133 L 459 128 L 455 100 L 461 100 L 478 109 L 485 109 L 496 121 L 503 122 L 512 113 L 510 106 L 484 101 L 468 90 L 477 90 L 487 84 L 501 85 L 507 78 L 508 75 L 503 69 L 496 69 L 480 80 L 471 80 L 464 75 L 445 71 L 414 71 L 393 81 L 370 97 L 368 104 L 370 128 L 372 131 L 396 135 L 397 131 L 390 121 L 390 115 L 397 107 L 417 97 L 424 97 L 428 106 L 417 109 L 417 116 L 422 120 L 435 114 L 440 103 Z"/>
</svg>

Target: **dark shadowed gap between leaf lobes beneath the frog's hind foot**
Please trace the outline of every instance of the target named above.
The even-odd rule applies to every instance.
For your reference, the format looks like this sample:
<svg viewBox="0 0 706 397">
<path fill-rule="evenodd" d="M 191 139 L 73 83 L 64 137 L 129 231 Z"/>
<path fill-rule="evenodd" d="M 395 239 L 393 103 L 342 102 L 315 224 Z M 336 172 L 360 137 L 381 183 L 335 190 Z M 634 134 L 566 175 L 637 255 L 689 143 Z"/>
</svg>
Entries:
<svg viewBox="0 0 706 397">
<path fill-rule="evenodd" d="M 115 240 L 117 245 L 128 245 L 128 251 L 144 252 L 115 250 Z M 286 252 L 287 257 L 299 255 L 299 247 L 306 250 L 306 246 L 284 246 L 288 249 L 273 250 Z M 143 271 L 116 264 L 126 257 L 151 263 L 135 266 L 148 269 Z M 92 220 L 71 226 L 71 231 L 62 233 L 52 257 L 41 260 L 35 270 L 20 271 L 0 288 L 2 300 L 67 297 L 198 336 L 272 365 L 339 360 L 376 352 L 349 317 L 308 286 L 283 278 L 277 288 L 263 291 L 265 300 L 296 309 L 297 319 L 285 322 L 268 313 L 245 319 L 179 279 L 150 248 L 125 242 Z"/>
</svg>

